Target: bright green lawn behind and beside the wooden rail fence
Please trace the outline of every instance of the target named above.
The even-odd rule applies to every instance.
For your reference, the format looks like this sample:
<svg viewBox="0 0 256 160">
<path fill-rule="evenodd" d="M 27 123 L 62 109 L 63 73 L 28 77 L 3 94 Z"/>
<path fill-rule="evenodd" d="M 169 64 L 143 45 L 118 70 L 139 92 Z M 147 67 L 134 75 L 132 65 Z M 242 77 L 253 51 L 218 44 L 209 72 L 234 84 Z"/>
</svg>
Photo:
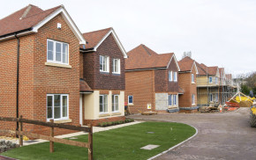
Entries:
<svg viewBox="0 0 256 160">
<path fill-rule="evenodd" d="M 154 132 L 149 134 L 147 132 Z M 195 129 L 181 123 L 144 122 L 94 134 L 94 159 L 147 159 L 183 142 L 195 134 Z M 87 142 L 87 135 L 76 141 Z M 148 144 L 160 145 L 152 150 L 140 149 Z M 87 159 L 87 149 L 55 143 L 49 153 L 49 142 L 43 142 L 2 153 L 18 159 Z"/>
</svg>

